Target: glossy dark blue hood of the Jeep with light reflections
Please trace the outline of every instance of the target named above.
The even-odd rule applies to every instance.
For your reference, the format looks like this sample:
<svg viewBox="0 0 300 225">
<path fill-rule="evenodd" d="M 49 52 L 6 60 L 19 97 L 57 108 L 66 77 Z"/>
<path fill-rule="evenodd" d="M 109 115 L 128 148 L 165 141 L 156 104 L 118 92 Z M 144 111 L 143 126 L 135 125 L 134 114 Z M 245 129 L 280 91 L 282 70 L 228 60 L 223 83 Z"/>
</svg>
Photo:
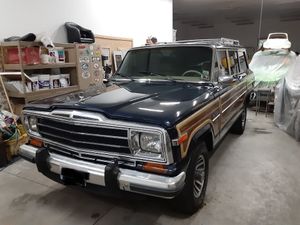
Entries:
<svg viewBox="0 0 300 225">
<path fill-rule="evenodd" d="M 132 81 L 95 86 L 85 92 L 36 101 L 25 109 L 76 109 L 99 112 L 110 119 L 169 128 L 214 98 L 210 84 Z"/>
</svg>

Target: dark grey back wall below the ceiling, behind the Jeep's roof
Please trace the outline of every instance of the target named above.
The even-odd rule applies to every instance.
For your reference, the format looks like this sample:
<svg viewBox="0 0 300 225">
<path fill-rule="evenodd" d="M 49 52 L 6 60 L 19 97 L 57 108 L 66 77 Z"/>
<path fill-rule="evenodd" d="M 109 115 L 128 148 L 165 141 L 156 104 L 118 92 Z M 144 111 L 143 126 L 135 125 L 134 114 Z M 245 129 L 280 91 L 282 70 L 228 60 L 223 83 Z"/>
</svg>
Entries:
<svg viewBox="0 0 300 225">
<path fill-rule="evenodd" d="M 292 42 L 292 49 L 300 52 L 300 29 L 298 29 L 300 21 L 280 22 L 279 20 L 263 20 L 262 35 L 267 37 L 271 32 L 286 32 Z M 258 21 L 255 24 L 237 26 L 232 23 L 215 24 L 213 28 L 197 29 L 193 26 L 174 23 L 177 29 L 177 39 L 197 39 L 197 38 L 217 38 L 228 37 L 239 39 L 241 44 L 246 47 L 254 47 L 257 45 Z"/>
</svg>

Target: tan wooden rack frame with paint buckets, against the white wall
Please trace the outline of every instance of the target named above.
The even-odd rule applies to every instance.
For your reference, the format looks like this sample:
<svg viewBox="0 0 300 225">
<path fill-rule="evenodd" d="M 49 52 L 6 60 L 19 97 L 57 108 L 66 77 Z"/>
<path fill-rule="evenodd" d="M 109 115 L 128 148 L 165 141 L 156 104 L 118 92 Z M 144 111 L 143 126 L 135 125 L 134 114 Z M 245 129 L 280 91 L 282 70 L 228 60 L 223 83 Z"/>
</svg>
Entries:
<svg viewBox="0 0 300 225">
<path fill-rule="evenodd" d="M 23 62 L 21 57 L 22 49 L 26 47 L 40 47 L 42 51 L 46 49 L 40 42 L 3 42 L 1 43 L 1 58 L 0 62 L 2 62 L 2 70 L 5 72 L 21 72 L 21 76 L 19 76 L 19 80 L 22 82 L 23 93 L 22 92 L 10 92 L 8 91 L 8 95 L 11 99 L 17 100 L 17 102 L 23 102 L 24 104 L 50 97 L 55 97 L 62 94 L 71 93 L 79 90 L 79 79 L 78 79 L 78 65 L 77 65 L 77 51 L 75 44 L 60 44 L 55 43 L 56 47 L 63 47 L 65 50 L 66 62 L 65 63 L 56 63 L 56 64 L 34 64 L 29 65 Z M 17 48 L 19 63 L 18 64 L 8 64 L 6 60 L 7 49 Z M 1 67 L 1 66 L 0 66 Z M 52 70 L 60 71 L 61 73 L 70 74 L 70 87 L 65 88 L 56 88 L 56 89 L 43 89 L 33 92 L 26 92 L 26 77 L 24 74 L 29 77 L 31 74 L 52 74 Z M 6 78 L 4 78 L 6 79 Z M 9 79 L 16 79 L 15 77 Z"/>
</svg>

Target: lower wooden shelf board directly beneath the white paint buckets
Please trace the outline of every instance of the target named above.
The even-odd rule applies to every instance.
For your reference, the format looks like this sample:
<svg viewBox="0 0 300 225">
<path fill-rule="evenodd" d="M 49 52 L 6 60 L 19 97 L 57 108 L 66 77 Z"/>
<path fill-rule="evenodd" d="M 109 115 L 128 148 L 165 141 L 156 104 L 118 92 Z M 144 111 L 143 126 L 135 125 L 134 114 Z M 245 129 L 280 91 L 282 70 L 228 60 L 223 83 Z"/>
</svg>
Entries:
<svg viewBox="0 0 300 225">
<path fill-rule="evenodd" d="M 74 91 L 78 91 L 79 86 L 74 85 L 65 88 L 56 88 L 56 89 L 46 89 L 46 90 L 39 90 L 34 92 L 27 92 L 25 94 L 19 92 L 8 92 L 9 97 L 12 98 L 26 98 L 28 102 L 40 100 L 44 98 L 51 98 L 58 95 L 68 94 Z"/>
</svg>

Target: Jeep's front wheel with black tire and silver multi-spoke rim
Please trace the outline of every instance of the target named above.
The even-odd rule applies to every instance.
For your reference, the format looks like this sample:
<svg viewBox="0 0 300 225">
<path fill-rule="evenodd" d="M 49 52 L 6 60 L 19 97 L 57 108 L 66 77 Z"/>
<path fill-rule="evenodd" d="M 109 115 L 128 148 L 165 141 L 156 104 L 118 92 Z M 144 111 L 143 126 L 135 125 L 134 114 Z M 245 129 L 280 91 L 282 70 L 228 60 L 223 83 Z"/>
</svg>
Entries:
<svg viewBox="0 0 300 225">
<path fill-rule="evenodd" d="M 191 149 L 190 162 L 186 171 L 185 186 L 174 199 L 176 210 L 192 214 L 203 206 L 208 180 L 208 151 L 205 142 Z"/>
</svg>

